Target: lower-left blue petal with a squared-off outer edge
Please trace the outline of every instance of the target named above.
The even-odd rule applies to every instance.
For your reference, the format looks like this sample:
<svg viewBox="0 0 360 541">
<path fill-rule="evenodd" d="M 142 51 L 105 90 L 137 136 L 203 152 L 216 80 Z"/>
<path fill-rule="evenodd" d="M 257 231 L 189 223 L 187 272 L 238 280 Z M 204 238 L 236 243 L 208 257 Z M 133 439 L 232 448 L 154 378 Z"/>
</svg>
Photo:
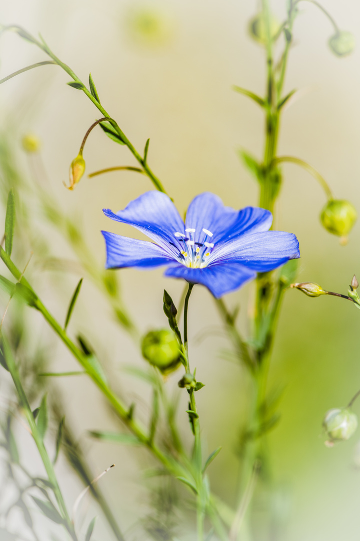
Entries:
<svg viewBox="0 0 360 541">
<path fill-rule="evenodd" d="M 153 242 L 129 239 L 107 231 L 101 231 L 106 245 L 106 268 L 142 267 L 151 268 L 173 262 Z"/>
</svg>

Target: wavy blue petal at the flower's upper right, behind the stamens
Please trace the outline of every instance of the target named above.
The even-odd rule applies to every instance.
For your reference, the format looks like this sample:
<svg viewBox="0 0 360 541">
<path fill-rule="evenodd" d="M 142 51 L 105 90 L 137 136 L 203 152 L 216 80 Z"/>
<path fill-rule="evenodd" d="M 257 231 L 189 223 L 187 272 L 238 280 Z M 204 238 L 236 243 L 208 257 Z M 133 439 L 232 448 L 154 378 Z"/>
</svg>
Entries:
<svg viewBox="0 0 360 541">
<path fill-rule="evenodd" d="M 234 239 L 244 233 L 268 231 L 273 216 L 269 210 L 257 207 L 246 207 L 234 210 L 225 207 L 220 197 L 210 192 L 200 194 L 189 204 L 186 213 L 186 228 L 195 229 L 195 242 L 203 243 L 205 228 L 213 233 L 208 242 L 219 243 Z"/>
</svg>

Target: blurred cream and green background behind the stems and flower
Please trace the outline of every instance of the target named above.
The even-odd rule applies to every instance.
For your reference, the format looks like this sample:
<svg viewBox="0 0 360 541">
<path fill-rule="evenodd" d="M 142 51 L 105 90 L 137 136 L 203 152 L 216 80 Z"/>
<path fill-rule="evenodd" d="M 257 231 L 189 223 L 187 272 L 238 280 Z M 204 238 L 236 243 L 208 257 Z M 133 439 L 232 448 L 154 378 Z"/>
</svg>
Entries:
<svg viewBox="0 0 360 541">
<path fill-rule="evenodd" d="M 272 2 L 282 18 L 285 2 Z M 354 0 L 324 2 L 339 27 L 360 40 L 360 6 Z M 138 2 L 104 0 L 16 0 L 3 2 L 2 23 L 19 24 L 40 33 L 53 51 L 86 81 L 91 71 L 101 101 L 121 129 L 142 149 L 151 138 L 148 162 L 160 177 L 180 212 L 198 193 L 217 193 L 229 206 L 257 204 L 257 186 L 236 154 L 245 148 L 261 157 L 263 113 L 235 94 L 238 84 L 263 95 L 265 56 L 261 46 L 248 36 L 247 25 L 259 5 L 254 1 L 167 0 Z M 139 14 L 156 14 L 149 27 Z M 358 201 L 360 132 L 359 51 L 337 58 L 328 49 L 332 28 L 314 5 L 301 4 L 290 52 L 287 93 L 304 93 L 283 115 L 279 155 L 294 155 L 321 171 L 336 197 L 348 199 L 360 210 Z M 15 34 L 0 42 L 0 77 L 44 55 Z M 0 88 L 2 133 L 16 151 L 17 167 L 31 179 L 31 163 L 21 148 L 25 133 L 42 141 L 42 160 L 59 208 L 83 224 L 87 240 L 99 263 L 105 250 L 100 229 L 133 235 L 131 228 L 109 222 L 102 208 L 117 211 L 148 189 L 146 177 L 131 172 L 109 173 L 89 179 L 84 176 L 74 192 L 63 187 L 73 157 L 77 155 L 86 129 L 98 117 L 85 96 L 68 87 L 68 77 L 55 66 L 42 67 L 12 79 Z M 126 147 L 112 144 L 100 129 L 86 143 L 86 173 L 117 165 L 136 165 Z M 31 160 L 31 157 L 30 157 Z M 325 289 L 346 293 L 354 273 L 360 274 L 357 224 L 347 246 L 339 245 L 320 225 L 325 203 L 316 181 L 293 164 L 283 167 L 284 183 L 276 207 L 275 227 L 297 235 L 301 260 L 298 281 L 314 281 Z M 22 201 L 26 206 L 26 200 Z M 28 213 L 38 227 L 36 207 Z M 48 226 L 46 226 L 48 227 Z M 52 255 L 74 259 L 51 229 Z M 36 245 L 36 242 L 35 242 Z M 21 247 L 18 247 L 18 254 Z M 28 260 L 24 250 L 22 262 Z M 35 252 L 30 269 L 32 282 L 47 306 L 63 318 L 67 302 L 80 274 L 58 271 L 41 264 Z M 165 326 L 162 290 L 180 299 L 182 284 L 162 277 L 162 270 L 119 272 L 123 296 L 142 332 Z M 56 286 L 58 280 L 58 286 Z M 241 304 L 240 322 L 248 332 L 253 285 L 227 296 L 229 305 Z M 3 308 L 6 305 L 3 297 Z M 270 372 L 270 388 L 284 387 L 280 405 L 281 422 L 269 434 L 268 444 L 277 486 L 273 498 L 279 521 L 286 524 L 288 541 L 358 539 L 360 527 L 360 471 L 354 466 L 357 434 L 348 442 L 326 448 L 322 436 L 323 414 L 343 406 L 360 387 L 358 332 L 360 314 L 349 303 L 336 298 L 310 299 L 297 291 L 287 292 L 279 321 Z M 75 362 L 38 314 L 31 313 L 37 329 L 51 351 L 51 369 L 76 370 Z M 208 451 L 223 446 L 210 470 L 215 492 L 229 503 L 235 494 L 236 450 L 239 426 L 246 419 L 251 384 L 236 364 L 221 359 L 228 341 L 212 333 L 199 341 L 199 333 L 220 320 L 208 292 L 196 287 L 190 312 L 190 348 L 197 375 L 206 383 L 198 397 L 202 434 Z M 140 354 L 128 335 L 112 321 L 110 311 L 89 281 L 84 282 L 73 329 L 93 337 L 93 345 L 113 375 L 115 386 L 129 401 L 139 400 L 139 414 L 146 419 L 148 388 L 131 378 L 124 366 L 142 366 Z M 3 376 L 1 376 L 3 377 Z M 177 392 L 178 375 L 167 386 Z M 112 415 L 98 391 L 84 378 L 56 381 L 66 418 L 83 441 L 93 470 L 100 473 L 111 463 L 117 467 L 101 486 L 123 529 L 130 528 L 150 509 L 147 492 L 141 488 L 139 471 L 152 465 L 145 451 L 97 443 L 86 436 L 91 429 L 111 429 Z M 0 388 L 1 391 L 1 388 Z M 191 441 L 181 395 L 179 420 L 182 433 Z M 360 405 L 355 405 L 360 413 Z M 17 427 L 18 437 L 24 438 Z M 32 446 L 22 455 L 36 460 Z M 73 479 L 65 461 L 60 463 L 62 486 L 72 502 L 81 485 Z M 89 511 L 91 516 L 91 511 Z M 261 509 L 259 509 L 261 513 Z M 105 527 L 105 526 L 104 526 Z M 261 533 L 259 534 L 261 539 Z M 275 539 L 275 537 L 274 537 Z"/>
</svg>

